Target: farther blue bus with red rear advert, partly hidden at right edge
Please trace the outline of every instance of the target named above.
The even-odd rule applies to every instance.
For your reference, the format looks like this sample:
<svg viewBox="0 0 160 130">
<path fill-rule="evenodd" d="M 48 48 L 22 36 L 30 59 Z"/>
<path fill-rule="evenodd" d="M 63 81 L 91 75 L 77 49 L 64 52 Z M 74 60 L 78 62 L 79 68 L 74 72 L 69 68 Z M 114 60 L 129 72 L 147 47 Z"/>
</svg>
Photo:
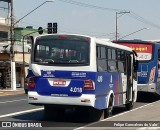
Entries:
<svg viewBox="0 0 160 130">
<path fill-rule="evenodd" d="M 132 48 L 138 55 L 137 91 L 160 94 L 160 44 L 142 40 L 114 42 Z"/>
</svg>

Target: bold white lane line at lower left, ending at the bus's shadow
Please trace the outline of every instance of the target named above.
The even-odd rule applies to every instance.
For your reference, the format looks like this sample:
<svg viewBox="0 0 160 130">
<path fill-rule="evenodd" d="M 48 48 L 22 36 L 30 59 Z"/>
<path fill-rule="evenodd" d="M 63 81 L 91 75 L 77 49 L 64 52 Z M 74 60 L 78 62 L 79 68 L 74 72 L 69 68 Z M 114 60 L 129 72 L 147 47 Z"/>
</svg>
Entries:
<svg viewBox="0 0 160 130">
<path fill-rule="evenodd" d="M 0 118 L 20 115 L 20 114 L 29 113 L 29 112 L 40 111 L 40 110 L 43 110 L 43 109 L 44 109 L 43 107 L 40 107 L 40 108 L 30 109 L 30 110 L 25 110 L 25 111 L 20 111 L 20 112 L 13 112 L 13 113 L 5 114 L 5 115 L 0 115 Z"/>
</svg>

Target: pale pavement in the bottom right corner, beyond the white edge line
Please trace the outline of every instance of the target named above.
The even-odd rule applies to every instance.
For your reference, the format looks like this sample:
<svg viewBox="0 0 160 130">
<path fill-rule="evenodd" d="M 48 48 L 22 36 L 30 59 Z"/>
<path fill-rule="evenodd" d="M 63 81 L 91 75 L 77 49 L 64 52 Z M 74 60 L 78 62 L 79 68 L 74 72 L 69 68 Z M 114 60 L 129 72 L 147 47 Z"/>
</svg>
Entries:
<svg viewBox="0 0 160 130">
<path fill-rule="evenodd" d="M 160 130 L 160 100 L 106 118 L 85 128 L 105 130 Z M 87 130 L 87 129 L 81 129 Z"/>
</svg>

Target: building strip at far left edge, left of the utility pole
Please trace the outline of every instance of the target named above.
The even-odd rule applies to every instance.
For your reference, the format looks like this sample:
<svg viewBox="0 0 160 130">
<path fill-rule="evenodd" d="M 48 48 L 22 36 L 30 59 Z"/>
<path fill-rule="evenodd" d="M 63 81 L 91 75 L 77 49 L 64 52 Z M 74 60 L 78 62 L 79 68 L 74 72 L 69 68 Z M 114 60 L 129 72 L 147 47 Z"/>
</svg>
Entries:
<svg viewBox="0 0 160 130">
<path fill-rule="evenodd" d="M 0 87 L 10 87 L 10 0 L 0 0 Z"/>
</svg>

